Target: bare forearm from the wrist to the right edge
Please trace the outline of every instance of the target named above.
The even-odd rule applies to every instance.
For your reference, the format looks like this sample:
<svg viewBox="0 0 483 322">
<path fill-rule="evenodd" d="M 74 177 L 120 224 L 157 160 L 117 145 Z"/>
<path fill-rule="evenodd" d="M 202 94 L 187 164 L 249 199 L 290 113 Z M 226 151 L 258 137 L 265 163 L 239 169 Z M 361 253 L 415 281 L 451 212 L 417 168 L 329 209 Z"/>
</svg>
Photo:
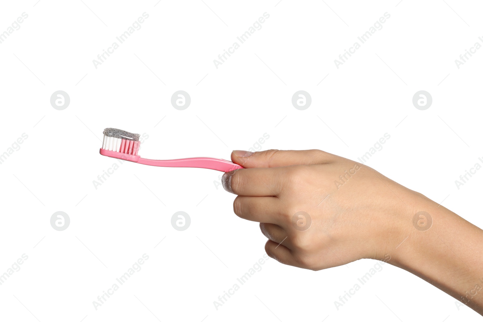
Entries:
<svg viewBox="0 0 483 322">
<path fill-rule="evenodd" d="M 394 250 L 389 262 L 483 315 L 483 231 L 427 198 L 417 199 L 418 211 L 426 211 L 432 225 L 414 226 L 413 214 L 407 214 L 408 224 L 401 236 L 408 238 Z M 420 220 L 424 224 L 424 218 Z"/>
</svg>

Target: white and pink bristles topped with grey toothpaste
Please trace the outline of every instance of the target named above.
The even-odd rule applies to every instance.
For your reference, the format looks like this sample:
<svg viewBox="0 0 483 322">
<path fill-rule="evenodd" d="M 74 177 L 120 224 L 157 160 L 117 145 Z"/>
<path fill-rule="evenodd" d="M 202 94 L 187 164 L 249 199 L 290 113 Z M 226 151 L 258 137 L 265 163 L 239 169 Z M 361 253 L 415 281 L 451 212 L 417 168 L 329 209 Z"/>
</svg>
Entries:
<svg viewBox="0 0 483 322">
<path fill-rule="evenodd" d="M 113 127 L 104 129 L 102 133 L 104 134 L 102 149 L 137 155 L 139 150 L 139 134 Z M 124 145 L 122 145 L 123 140 L 125 140 Z"/>
</svg>

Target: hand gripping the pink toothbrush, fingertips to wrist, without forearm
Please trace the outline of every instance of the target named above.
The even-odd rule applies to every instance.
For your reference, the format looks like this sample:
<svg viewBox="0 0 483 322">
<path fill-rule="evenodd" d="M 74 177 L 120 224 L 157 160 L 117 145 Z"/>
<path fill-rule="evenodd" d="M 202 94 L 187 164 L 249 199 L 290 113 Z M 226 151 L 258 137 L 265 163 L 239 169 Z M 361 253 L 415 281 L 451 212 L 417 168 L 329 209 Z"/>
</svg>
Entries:
<svg viewBox="0 0 483 322">
<path fill-rule="evenodd" d="M 223 176 L 238 195 L 233 210 L 260 223 L 267 253 L 281 263 L 318 270 L 384 260 L 406 237 L 402 200 L 416 193 L 372 168 L 319 150 L 231 157 L 246 168 Z"/>
</svg>

